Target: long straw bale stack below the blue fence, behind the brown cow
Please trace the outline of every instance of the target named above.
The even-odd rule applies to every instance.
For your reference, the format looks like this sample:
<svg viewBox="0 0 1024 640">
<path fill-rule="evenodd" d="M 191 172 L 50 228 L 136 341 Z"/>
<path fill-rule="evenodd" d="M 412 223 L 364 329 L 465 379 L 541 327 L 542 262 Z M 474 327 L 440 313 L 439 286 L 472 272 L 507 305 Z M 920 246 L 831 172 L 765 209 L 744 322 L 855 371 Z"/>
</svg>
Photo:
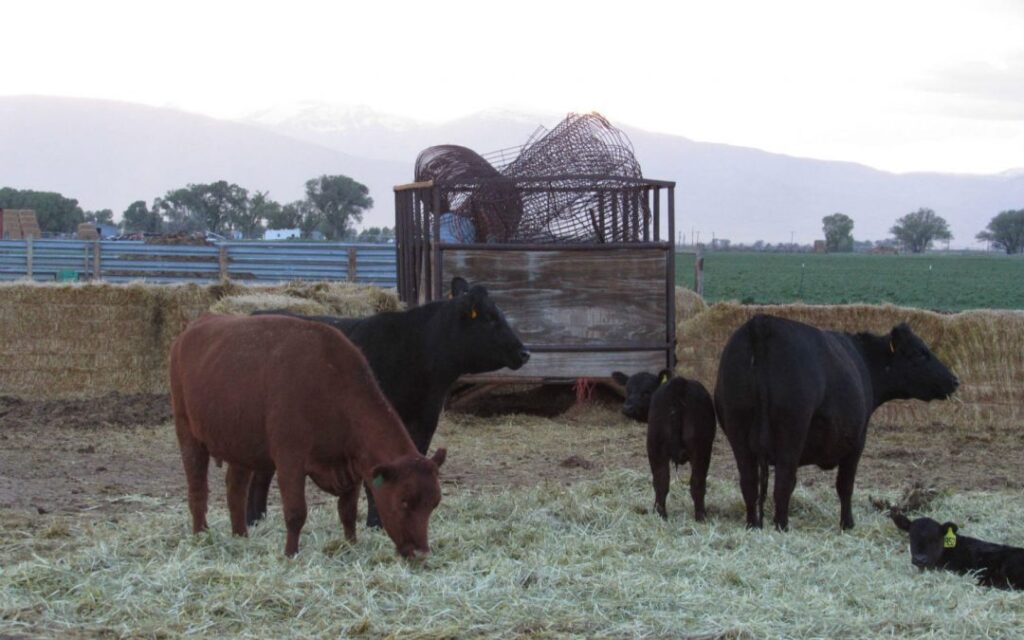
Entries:
<svg viewBox="0 0 1024 640">
<path fill-rule="evenodd" d="M 307 295 L 287 296 L 289 290 Z M 347 316 L 399 307 L 393 291 L 347 283 L 3 283 L 0 389 L 28 398 L 164 393 L 174 338 L 211 306 L 222 301 L 218 309 L 242 309 L 250 304 L 246 297 L 262 299 L 259 304 Z M 252 309 L 263 308 L 251 304 Z"/>
</svg>

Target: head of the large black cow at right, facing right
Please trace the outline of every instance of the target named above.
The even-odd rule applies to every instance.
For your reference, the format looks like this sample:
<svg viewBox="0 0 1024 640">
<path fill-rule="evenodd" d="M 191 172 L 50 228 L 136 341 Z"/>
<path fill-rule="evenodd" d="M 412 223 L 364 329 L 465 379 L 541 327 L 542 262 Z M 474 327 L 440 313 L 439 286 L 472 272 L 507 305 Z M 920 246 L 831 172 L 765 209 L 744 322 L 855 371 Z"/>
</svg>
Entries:
<svg viewBox="0 0 1024 640">
<path fill-rule="evenodd" d="M 885 371 L 889 397 L 940 400 L 959 386 L 956 376 L 906 323 L 894 327 L 888 340 Z"/>
</svg>

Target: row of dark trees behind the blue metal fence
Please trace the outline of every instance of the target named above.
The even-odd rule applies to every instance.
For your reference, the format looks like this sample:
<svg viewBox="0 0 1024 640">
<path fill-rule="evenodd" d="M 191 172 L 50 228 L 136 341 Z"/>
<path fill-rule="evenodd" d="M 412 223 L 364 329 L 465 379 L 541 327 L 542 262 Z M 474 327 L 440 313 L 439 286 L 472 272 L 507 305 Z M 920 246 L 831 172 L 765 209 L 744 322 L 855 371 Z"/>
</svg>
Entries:
<svg viewBox="0 0 1024 640">
<path fill-rule="evenodd" d="M 218 180 L 187 184 L 155 198 L 128 205 L 120 227 L 124 232 L 212 231 L 221 236 L 263 237 L 266 229 L 300 230 L 302 238 L 323 234 L 327 240 L 382 242 L 393 229 L 370 227 L 355 232 L 355 223 L 374 200 L 366 185 L 345 175 L 322 175 L 305 183 L 305 197 L 281 204 L 267 191 L 250 191 Z M 0 208 L 34 209 L 45 232 L 74 232 L 82 222 L 114 223 L 114 212 L 83 210 L 73 198 L 52 191 L 0 188 Z"/>
</svg>

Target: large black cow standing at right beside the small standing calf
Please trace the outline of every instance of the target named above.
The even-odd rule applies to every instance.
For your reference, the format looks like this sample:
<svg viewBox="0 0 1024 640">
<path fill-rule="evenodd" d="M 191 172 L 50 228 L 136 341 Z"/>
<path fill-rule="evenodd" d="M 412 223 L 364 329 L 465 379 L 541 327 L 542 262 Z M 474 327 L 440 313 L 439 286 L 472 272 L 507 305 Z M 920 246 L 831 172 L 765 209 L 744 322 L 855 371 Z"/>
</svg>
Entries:
<svg viewBox="0 0 1024 640">
<path fill-rule="evenodd" d="M 905 324 L 876 336 L 755 315 L 725 345 L 715 387 L 748 526 L 762 525 L 768 465 L 775 467 L 775 526 L 785 529 L 797 468 L 813 464 L 839 467 L 840 525 L 852 527 L 850 499 L 871 413 L 897 398 L 945 398 L 957 385 Z"/>
</svg>

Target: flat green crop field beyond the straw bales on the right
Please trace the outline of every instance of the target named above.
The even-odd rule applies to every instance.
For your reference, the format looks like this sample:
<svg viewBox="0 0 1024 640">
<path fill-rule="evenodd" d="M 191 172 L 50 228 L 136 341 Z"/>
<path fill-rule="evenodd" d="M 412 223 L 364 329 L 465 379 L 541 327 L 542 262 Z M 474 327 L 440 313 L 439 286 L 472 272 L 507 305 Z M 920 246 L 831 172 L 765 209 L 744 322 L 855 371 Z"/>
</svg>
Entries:
<svg viewBox="0 0 1024 640">
<path fill-rule="evenodd" d="M 677 254 L 680 286 L 693 288 L 693 262 Z M 1024 309 L 1024 258 L 709 252 L 703 286 L 709 302 Z"/>
</svg>

